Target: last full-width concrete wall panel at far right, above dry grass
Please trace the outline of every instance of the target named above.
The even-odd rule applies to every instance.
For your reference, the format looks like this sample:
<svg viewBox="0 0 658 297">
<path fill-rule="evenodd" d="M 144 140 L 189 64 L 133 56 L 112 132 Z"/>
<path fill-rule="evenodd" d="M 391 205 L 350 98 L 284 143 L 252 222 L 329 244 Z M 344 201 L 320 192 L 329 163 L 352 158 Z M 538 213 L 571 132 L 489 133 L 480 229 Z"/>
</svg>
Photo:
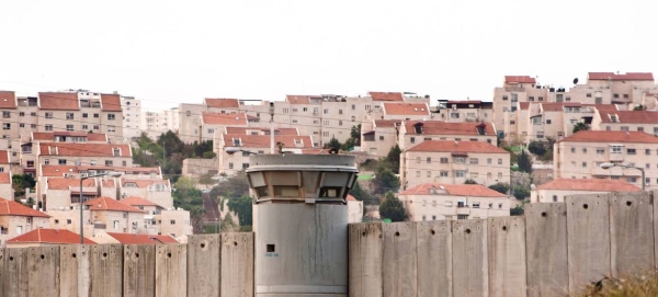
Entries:
<svg viewBox="0 0 658 297">
<path fill-rule="evenodd" d="M 610 252 L 613 276 L 655 266 L 654 207 L 648 192 L 612 193 Z"/>
</svg>

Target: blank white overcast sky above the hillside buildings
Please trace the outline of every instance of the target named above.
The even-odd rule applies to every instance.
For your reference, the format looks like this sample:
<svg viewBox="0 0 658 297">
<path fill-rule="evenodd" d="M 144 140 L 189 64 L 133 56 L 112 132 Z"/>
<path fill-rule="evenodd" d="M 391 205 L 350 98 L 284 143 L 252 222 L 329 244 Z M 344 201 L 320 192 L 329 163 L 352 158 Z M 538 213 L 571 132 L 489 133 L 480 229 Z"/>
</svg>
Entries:
<svg viewBox="0 0 658 297">
<path fill-rule="evenodd" d="M 412 91 L 490 101 L 658 69 L 658 1 L 1 1 L 0 90 L 205 96 Z"/>
</svg>

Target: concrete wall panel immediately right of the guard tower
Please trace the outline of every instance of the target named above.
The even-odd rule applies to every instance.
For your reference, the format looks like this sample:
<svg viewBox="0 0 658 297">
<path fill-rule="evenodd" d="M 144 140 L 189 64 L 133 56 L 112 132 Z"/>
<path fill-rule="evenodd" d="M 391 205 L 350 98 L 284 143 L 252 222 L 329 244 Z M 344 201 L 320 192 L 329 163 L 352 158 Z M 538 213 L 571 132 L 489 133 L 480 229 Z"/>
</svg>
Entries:
<svg viewBox="0 0 658 297">
<path fill-rule="evenodd" d="M 351 224 L 349 227 L 350 297 L 381 297 L 384 235 L 381 222 Z"/>
</svg>

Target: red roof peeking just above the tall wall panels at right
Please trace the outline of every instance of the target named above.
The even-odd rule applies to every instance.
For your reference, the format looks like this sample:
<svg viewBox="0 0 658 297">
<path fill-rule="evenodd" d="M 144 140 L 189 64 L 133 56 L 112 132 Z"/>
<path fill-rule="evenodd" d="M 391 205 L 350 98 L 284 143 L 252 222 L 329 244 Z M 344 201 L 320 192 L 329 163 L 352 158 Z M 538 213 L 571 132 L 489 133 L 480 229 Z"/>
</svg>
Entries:
<svg viewBox="0 0 658 297">
<path fill-rule="evenodd" d="M 557 179 L 537 186 L 537 190 L 567 190 L 593 192 L 638 192 L 642 189 L 622 180 Z"/>
</svg>

